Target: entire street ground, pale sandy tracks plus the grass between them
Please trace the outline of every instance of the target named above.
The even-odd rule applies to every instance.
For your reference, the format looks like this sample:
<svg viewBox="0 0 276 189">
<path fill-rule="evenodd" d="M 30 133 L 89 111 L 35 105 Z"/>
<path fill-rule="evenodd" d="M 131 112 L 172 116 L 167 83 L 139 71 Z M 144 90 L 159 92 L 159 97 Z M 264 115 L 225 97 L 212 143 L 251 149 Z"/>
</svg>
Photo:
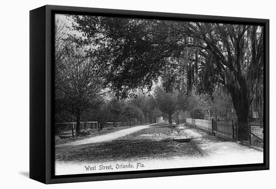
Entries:
<svg viewBox="0 0 276 189">
<path fill-rule="evenodd" d="M 177 142 L 175 136 L 192 139 Z M 55 154 L 57 175 L 106 172 L 102 165 L 113 167 L 108 171 L 129 171 L 263 162 L 263 151 L 189 125 L 173 133 L 170 126 L 135 126 L 61 145 Z M 116 168 L 121 164 L 132 166 Z M 88 165 L 96 168 L 87 171 Z"/>
</svg>

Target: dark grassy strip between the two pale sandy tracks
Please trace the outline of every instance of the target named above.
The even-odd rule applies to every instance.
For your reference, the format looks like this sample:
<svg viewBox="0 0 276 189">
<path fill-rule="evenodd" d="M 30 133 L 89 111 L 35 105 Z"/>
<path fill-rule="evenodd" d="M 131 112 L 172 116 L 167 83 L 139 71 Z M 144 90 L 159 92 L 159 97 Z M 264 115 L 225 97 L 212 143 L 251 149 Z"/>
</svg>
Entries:
<svg viewBox="0 0 276 189">
<path fill-rule="evenodd" d="M 160 135 L 143 136 L 143 134 Z M 201 156 L 192 143 L 176 142 L 170 126 L 149 127 L 116 140 L 56 148 L 57 161 L 104 162 Z"/>
</svg>

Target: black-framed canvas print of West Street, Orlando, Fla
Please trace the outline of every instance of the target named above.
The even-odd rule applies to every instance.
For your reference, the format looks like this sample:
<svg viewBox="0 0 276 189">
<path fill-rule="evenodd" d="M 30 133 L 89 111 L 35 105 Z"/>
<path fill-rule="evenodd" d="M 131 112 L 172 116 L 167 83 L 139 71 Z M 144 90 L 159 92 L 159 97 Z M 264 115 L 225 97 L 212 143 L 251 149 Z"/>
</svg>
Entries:
<svg viewBox="0 0 276 189">
<path fill-rule="evenodd" d="M 30 177 L 269 168 L 269 20 L 30 11 Z"/>
</svg>

